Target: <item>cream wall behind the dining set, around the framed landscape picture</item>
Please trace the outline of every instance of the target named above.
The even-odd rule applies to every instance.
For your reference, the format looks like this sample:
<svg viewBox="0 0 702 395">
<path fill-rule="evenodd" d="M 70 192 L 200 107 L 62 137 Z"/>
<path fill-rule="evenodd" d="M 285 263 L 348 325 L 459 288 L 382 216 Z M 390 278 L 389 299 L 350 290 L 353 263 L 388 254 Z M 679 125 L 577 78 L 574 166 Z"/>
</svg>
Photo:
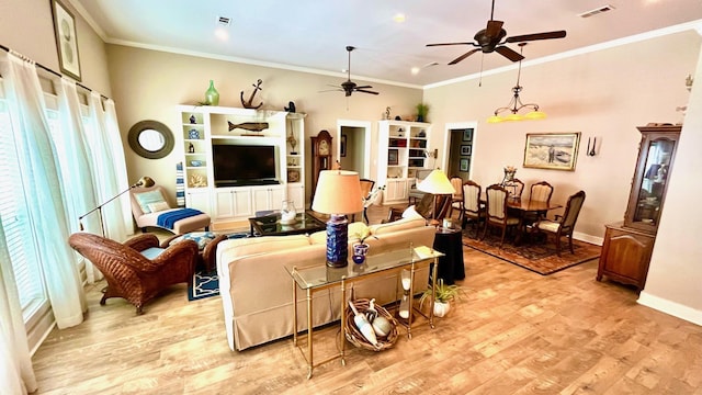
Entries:
<svg viewBox="0 0 702 395">
<path fill-rule="evenodd" d="M 431 104 L 435 129 L 477 121 L 472 158 L 476 182 L 484 188 L 498 182 L 502 168 L 511 165 L 526 185 L 551 182 L 556 202 L 565 203 L 581 189 L 587 198 L 576 232 L 601 238 L 604 224 L 624 217 L 641 139 L 636 126 L 679 121 L 676 106 L 688 101 L 684 78 L 695 69 L 701 42 L 688 31 L 557 61 L 524 63 L 522 101 L 537 103 L 548 114 L 544 121 L 485 122 L 508 104 L 516 69 L 484 76 L 483 87 L 473 79 L 427 89 L 424 101 Z M 529 47 L 524 54 L 529 58 Z M 582 133 L 575 171 L 522 168 L 526 133 L 544 132 Z M 595 157 L 585 155 L 589 137 L 598 139 Z"/>
</svg>

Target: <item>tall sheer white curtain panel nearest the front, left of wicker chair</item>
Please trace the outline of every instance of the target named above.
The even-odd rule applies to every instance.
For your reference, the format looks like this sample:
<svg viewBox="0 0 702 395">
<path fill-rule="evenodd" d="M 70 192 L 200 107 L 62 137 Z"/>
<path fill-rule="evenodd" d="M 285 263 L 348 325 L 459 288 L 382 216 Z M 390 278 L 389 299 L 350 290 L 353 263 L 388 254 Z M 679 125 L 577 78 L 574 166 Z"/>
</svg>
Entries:
<svg viewBox="0 0 702 395">
<path fill-rule="evenodd" d="M 82 323 L 86 302 L 72 251 L 61 194 L 58 155 L 46 120 L 44 93 L 36 67 L 12 54 L 0 59 L 23 176 L 26 204 L 52 311 L 59 328 Z M 37 279 L 37 281 L 41 281 Z"/>
</svg>

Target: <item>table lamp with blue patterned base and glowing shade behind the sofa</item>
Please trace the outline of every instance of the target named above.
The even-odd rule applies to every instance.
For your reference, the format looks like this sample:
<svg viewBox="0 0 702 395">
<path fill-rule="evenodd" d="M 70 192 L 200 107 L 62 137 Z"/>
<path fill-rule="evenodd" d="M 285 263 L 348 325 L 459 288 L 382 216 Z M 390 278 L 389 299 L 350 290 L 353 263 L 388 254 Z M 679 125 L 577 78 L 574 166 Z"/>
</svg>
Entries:
<svg viewBox="0 0 702 395">
<path fill-rule="evenodd" d="M 359 173 L 320 171 L 312 210 L 330 215 L 327 222 L 327 266 L 346 267 L 349 258 L 349 222 L 346 213 L 363 211 Z"/>
</svg>

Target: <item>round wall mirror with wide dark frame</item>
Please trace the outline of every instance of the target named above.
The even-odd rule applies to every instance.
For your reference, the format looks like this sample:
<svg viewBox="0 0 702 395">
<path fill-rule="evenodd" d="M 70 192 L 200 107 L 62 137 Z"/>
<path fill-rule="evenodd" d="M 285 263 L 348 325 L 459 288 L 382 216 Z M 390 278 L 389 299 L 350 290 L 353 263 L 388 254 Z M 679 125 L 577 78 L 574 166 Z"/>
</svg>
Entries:
<svg viewBox="0 0 702 395">
<path fill-rule="evenodd" d="M 158 121 L 140 121 L 134 124 L 127 135 L 129 147 L 147 159 L 159 159 L 173 149 L 173 134 Z"/>
</svg>

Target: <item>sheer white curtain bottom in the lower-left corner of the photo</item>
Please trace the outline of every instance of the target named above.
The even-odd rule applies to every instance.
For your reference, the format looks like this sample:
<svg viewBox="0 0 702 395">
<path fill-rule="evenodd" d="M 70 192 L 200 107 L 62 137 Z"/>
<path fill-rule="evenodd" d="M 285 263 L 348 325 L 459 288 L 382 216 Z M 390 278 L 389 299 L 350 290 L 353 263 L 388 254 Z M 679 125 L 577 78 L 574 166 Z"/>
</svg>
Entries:
<svg viewBox="0 0 702 395">
<path fill-rule="evenodd" d="M 0 239 L 4 230 L 0 222 Z M 0 242 L 0 392 L 26 394 L 37 390 L 22 319 L 22 307 L 14 284 L 10 253 Z"/>
</svg>

